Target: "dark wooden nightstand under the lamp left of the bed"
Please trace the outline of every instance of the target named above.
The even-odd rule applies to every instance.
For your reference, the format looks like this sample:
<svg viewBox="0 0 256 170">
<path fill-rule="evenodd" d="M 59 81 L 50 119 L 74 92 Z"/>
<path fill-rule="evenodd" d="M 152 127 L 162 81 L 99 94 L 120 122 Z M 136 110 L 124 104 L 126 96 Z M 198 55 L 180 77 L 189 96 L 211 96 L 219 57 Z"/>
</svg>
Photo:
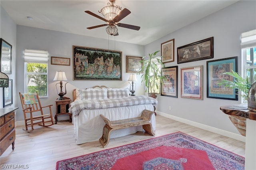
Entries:
<svg viewBox="0 0 256 170">
<path fill-rule="evenodd" d="M 54 117 L 55 119 L 55 124 L 57 124 L 57 116 L 59 115 L 69 115 L 69 121 L 70 123 L 72 122 L 72 114 L 68 113 L 68 109 L 70 107 L 71 99 L 64 99 L 64 100 L 56 100 L 56 115 Z"/>
</svg>

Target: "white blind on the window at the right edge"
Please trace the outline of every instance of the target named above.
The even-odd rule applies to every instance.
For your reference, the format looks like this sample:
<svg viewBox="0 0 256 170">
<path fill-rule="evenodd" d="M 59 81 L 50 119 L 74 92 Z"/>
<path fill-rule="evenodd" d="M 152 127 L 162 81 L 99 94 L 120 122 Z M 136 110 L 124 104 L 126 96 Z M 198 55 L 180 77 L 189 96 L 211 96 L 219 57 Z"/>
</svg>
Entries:
<svg viewBox="0 0 256 170">
<path fill-rule="evenodd" d="M 241 48 L 256 46 L 256 30 L 251 30 L 241 34 Z"/>
</svg>

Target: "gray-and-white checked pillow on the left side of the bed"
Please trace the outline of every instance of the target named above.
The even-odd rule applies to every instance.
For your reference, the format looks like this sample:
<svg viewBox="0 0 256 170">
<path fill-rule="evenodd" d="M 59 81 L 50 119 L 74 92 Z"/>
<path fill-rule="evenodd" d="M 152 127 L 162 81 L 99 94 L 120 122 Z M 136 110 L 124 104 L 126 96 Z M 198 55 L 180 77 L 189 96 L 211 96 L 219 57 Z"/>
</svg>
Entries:
<svg viewBox="0 0 256 170">
<path fill-rule="evenodd" d="M 107 89 L 76 89 L 76 99 L 94 100 L 108 99 Z"/>
</svg>

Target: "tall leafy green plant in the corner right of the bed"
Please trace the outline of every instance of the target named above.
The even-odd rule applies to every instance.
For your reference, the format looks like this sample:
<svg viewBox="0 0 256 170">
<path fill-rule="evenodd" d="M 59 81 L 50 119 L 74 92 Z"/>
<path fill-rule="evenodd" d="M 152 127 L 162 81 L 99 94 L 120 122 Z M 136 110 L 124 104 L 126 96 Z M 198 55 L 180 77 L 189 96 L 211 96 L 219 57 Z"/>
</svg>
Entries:
<svg viewBox="0 0 256 170">
<path fill-rule="evenodd" d="M 148 53 L 148 56 L 142 57 L 140 63 L 142 63 L 142 67 L 139 69 L 138 74 L 141 75 L 141 83 L 146 86 L 145 92 L 148 92 L 150 97 L 157 97 L 157 94 L 160 92 L 160 83 L 163 83 L 165 79 L 164 76 L 161 76 L 160 67 L 164 67 L 164 63 L 162 63 L 162 56 L 157 56 L 156 54 L 159 51 L 154 53 Z"/>
</svg>

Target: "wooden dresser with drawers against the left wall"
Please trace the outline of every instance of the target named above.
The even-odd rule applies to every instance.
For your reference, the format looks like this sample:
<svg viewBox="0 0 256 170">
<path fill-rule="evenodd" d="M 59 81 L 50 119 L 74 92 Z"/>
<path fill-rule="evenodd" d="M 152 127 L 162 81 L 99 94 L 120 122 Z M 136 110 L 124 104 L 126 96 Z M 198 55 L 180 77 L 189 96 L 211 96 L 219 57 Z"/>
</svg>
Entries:
<svg viewBox="0 0 256 170">
<path fill-rule="evenodd" d="M 10 146 L 10 144 L 12 144 L 12 150 L 14 150 L 14 117 L 16 109 L 18 109 L 18 107 L 0 108 L 0 156 Z"/>
</svg>

